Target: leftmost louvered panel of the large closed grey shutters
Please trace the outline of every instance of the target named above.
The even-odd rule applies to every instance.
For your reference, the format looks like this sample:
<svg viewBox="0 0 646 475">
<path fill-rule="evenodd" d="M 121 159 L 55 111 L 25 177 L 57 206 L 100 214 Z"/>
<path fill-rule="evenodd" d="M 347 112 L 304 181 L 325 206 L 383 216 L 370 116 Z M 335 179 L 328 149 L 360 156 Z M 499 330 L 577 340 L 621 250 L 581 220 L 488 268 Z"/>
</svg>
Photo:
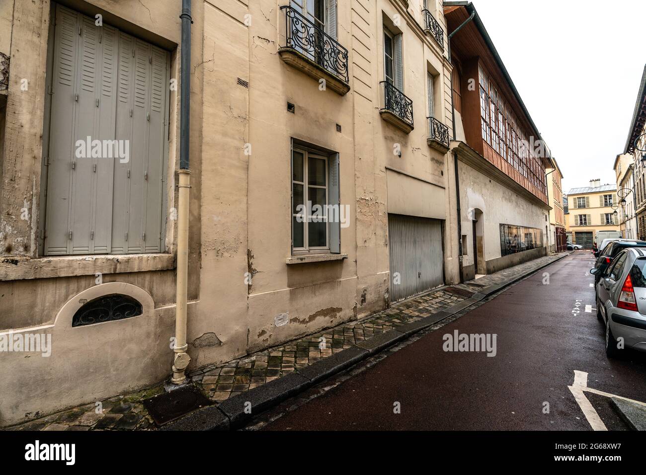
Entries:
<svg viewBox="0 0 646 475">
<path fill-rule="evenodd" d="M 71 248 L 70 194 L 75 147 L 74 108 L 76 105 L 79 16 L 63 6 L 56 7 L 54 69 L 52 72 L 52 120 L 47 176 L 47 215 L 45 254 L 65 255 Z"/>
</svg>

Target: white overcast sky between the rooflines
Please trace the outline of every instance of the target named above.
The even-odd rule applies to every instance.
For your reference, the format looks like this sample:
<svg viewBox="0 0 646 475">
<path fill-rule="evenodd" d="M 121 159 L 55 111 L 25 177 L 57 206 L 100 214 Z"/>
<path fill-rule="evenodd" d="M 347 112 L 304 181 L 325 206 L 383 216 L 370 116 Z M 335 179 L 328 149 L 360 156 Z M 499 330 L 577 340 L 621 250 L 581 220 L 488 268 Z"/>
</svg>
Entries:
<svg viewBox="0 0 646 475">
<path fill-rule="evenodd" d="M 473 0 L 565 175 L 615 183 L 646 64 L 646 1 Z"/>
</svg>

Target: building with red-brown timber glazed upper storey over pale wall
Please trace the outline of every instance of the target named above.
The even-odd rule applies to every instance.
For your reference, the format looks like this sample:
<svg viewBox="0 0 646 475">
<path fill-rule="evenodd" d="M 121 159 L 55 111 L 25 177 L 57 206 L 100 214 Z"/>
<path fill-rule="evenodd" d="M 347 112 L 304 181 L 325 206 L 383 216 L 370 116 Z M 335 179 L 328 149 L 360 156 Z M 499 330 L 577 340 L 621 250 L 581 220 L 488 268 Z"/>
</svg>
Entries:
<svg viewBox="0 0 646 475">
<path fill-rule="evenodd" d="M 547 253 L 545 169 L 551 162 L 474 5 L 445 1 L 444 16 L 452 32 L 467 22 L 450 45 L 451 148 L 459 177 L 461 275 L 466 280 Z"/>
</svg>

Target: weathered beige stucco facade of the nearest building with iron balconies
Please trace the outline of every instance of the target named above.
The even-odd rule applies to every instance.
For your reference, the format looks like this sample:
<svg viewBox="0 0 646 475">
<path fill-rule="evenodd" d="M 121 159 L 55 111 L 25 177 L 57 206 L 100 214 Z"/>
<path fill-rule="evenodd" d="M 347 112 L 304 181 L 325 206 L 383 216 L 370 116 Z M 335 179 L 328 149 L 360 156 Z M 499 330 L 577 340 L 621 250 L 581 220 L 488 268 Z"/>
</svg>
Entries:
<svg viewBox="0 0 646 475">
<path fill-rule="evenodd" d="M 61 4 L 89 17 L 101 14 L 107 25 L 169 51 L 170 78 L 181 82 L 178 1 Z M 452 156 L 429 145 L 426 125 L 430 72 L 435 118 L 451 126 L 451 67 L 439 2 L 428 8 L 443 25 L 444 47 L 421 26 L 422 0 L 339 2 L 337 40 L 348 49 L 347 94 L 321 90 L 317 79 L 282 60 L 285 17 L 279 7 L 289 1 L 277 4 L 193 1 L 189 370 L 386 308 L 389 212 L 440 220 L 444 282 L 459 282 Z M 6 112 L 0 114 L 6 118 L 0 336 L 52 335 L 49 357 L 0 354 L 0 425 L 151 385 L 169 375 L 172 361 L 178 90 L 169 90 L 165 252 L 45 256 L 39 251 L 54 6 L 48 0 L 16 0 L 0 7 L 0 52 L 10 56 Z M 384 25 L 403 38 L 403 92 L 413 101 L 415 123 L 410 133 L 379 111 Z M 27 89 L 21 89 L 23 79 Z M 288 102 L 293 112 L 287 111 Z M 293 141 L 339 154 L 340 204 L 350 213 L 337 255 L 292 259 Z M 108 293 L 132 296 L 143 314 L 71 326 L 79 305 Z M 288 323 L 277 324 L 284 315 Z"/>
</svg>

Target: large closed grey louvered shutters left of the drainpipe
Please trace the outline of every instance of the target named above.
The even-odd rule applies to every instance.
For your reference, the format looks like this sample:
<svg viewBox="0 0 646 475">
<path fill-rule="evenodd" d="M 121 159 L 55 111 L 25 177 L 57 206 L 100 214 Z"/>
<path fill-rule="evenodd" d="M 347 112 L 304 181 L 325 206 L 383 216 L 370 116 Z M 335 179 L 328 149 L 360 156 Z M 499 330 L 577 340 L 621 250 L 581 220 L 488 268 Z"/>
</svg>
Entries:
<svg viewBox="0 0 646 475">
<path fill-rule="evenodd" d="M 158 253 L 169 53 L 94 22 L 56 6 L 43 146 L 44 253 Z"/>
</svg>

